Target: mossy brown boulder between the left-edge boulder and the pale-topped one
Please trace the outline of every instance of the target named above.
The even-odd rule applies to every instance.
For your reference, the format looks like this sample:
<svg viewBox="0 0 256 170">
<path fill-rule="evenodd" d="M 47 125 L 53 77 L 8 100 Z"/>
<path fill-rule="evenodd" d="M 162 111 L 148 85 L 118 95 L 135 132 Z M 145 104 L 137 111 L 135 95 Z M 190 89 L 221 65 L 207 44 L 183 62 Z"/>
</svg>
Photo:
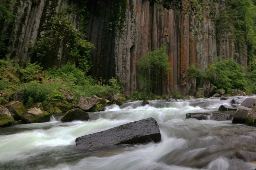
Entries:
<svg viewBox="0 0 256 170">
<path fill-rule="evenodd" d="M 15 120 L 20 120 L 23 112 L 26 110 L 26 107 L 22 102 L 12 101 L 4 105 L 5 108 L 9 110 L 11 114 L 13 114 L 13 118 Z"/>
</svg>

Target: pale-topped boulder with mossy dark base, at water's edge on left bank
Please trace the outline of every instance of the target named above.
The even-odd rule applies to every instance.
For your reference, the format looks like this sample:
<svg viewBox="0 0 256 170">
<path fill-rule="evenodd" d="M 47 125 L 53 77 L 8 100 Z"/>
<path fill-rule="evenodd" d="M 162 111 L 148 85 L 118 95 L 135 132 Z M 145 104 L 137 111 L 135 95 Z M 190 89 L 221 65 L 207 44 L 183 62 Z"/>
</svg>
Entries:
<svg viewBox="0 0 256 170">
<path fill-rule="evenodd" d="M 30 108 L 24 111 L 21 117 L 22 123 L 42 123 L 49 122 L 50 113 L 40 108 Z"/>
</svg>

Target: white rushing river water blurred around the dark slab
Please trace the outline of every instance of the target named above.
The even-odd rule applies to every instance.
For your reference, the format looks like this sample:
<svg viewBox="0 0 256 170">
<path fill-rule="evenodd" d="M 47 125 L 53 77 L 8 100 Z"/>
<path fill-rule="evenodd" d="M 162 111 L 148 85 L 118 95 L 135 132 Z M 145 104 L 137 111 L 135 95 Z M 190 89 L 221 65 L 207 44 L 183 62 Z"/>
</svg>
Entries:
<svg viewBox="0 0 256 170">
<path fill-rule="evenodd" d="M 254 96 L 255 97 L 255 96 Z M 214 169 L 256 168 L 256 128 L 231 121 L 185 119 L 186 113 L 218 111 L 246 97 L 152 100 L 112 105 L 90 113 L 89 121 L 22 124 L 0 128 L 0 169 Z M 77 150 L 77 137 L 153 117 L 162 141 L 101 150 Z M 113 136 L 114 138 L 114 136 Z"/>
</svg>

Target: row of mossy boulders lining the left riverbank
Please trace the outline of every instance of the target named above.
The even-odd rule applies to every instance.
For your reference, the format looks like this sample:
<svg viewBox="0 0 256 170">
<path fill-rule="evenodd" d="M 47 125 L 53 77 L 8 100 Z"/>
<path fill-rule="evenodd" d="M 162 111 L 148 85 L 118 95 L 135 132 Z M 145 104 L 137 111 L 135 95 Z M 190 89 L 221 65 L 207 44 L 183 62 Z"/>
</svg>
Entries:
<svg viewBox="0 0 256 170">
<path fill-rule="evenodd" d="M 87 121 L 88 112 L 104 111 L 108 104 L 122 104 L 125 101 L 123 94 L 115 94 L 112 102 L 97 96 L 80 97 L 76 103 L 72 103 L 74 96 L 72 92 L 65 88 L 59 91 L 64 93 L 67 103 L 52 101 L 51 104 L 43 106 L 42 103 L 34 103 L 30 108 L 24 105 L 22 90 L 12 94 L 12 102 L 0 104 L 0 127 L 11 126 L 20 123 L 42 123 L 49 122 L 51 115 L 63 115 L 61 121 L 69 122 L 73 120 Z"/>
</svg>

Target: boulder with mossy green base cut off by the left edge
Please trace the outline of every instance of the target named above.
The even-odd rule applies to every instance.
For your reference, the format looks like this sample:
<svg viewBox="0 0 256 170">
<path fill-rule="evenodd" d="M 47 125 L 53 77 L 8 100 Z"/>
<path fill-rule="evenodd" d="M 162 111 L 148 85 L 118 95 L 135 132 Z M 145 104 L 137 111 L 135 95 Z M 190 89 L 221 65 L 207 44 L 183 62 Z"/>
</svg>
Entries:
<svg viewBox="0 0 256 170">
<path fill-rule="evenodd" d="M 11 126 L 13 121 L 14 119 L 9 110 L 0 105 L 0 127 Z"/>
</svg>

